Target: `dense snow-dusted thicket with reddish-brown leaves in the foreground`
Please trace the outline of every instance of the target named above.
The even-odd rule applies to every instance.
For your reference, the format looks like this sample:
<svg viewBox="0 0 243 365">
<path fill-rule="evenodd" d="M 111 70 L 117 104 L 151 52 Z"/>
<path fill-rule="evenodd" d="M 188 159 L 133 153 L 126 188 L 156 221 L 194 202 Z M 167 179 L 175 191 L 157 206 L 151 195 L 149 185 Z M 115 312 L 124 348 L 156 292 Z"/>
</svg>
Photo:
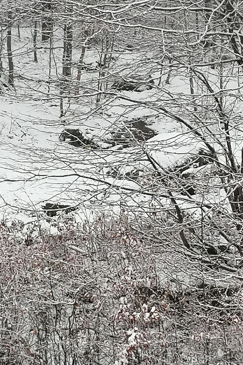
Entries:
<svg viewBox="0 0 243 365">
<path fill-rule="evenodd" d="M 219 362 L 226 341 L 242 361 L 241 289 L 182 287 L 183 270 L 197 266 L 159 243 L 158 222 L 145 234 L 149 222 L 125 215 L 99 216 L 89 230 L 59 219 L 57 235 L 36 230 L 28 245 L 23 223 L 1 222 L 1 363 L 193 364 L 205 351 Z"/>
</svg>

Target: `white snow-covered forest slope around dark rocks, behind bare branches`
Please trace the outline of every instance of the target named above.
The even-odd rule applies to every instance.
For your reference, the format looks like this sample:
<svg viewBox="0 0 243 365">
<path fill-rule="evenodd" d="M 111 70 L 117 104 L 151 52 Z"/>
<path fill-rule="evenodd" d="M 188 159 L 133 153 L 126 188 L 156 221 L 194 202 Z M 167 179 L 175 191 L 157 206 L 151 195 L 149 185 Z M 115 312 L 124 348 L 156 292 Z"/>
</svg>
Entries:
<svg viewBox="0 0 243 365">
<path fill-rule="evenodd" d="M 60 118 L 59 89 L 56 80 L 62 72 L 62 41 L 57 38 L 53 42 L 51 54 L 51 76 L 49 74 L 49 46 L 38 43 L 38 63 L 33 60 L 31 34 L 23 32 L 21 41 L 13 39 L 13 61 L 15 67 L 16 93 L 4 89 L 0 96 L 0 214 L 6 218 L 30 216 L 31 212 L 42 210 L 46 202 L 56 202 L 78 206 L 75 212 L 77 219 L 85 219 L 87 210 L 99 212 L 101 209 L 119 211 L 121 202 L 138 204 L 141 201 L 150 202 L 148 190 L 130 179 L 125 174 L 134 168 L 142 169 L 145 174 L 151 169 L 146 159 L 145 151 L 159 163 L 162 168 L 187 161 L 196 155 L 199 149 L 206 149 L 205 144 L 188 128 L 166 115 L 160 107 L 165 107 L 171 115 L 179 115 L 191 122 L 192 106 L 189 75 L 187 69 L 172 70 L 170 83 L 166 84 L 168 70 L 162 72 L 162 81 L 158 86 L 160 70 L 151 71 L 155 85 L 152 90 L 143 92 L 121 92 L 114 95 L 107 89 L 105 99 L 95 103 L 95 96 L 83 95 L 84 87 L 97 88 L 98 73 L 82 72 L 80 96 L 71 98 L 70 105 L 64 99 L 66 114 Z M 73 61 L 78 61 L 80 50 L 73 50 Z M 148 57 L 148 55 L 145 55 Z M 86 64 L 98 61 L 97 50 L 88 49 L 85 54 Z M 5 68 L 7 68 L 5 59 Z M 145 57 L 141 54 L 124 51 L 117 61 L 111 65 L 111 74 L 126 74 L 132 68 L 136 72 L 145 72 Z M 146 70 L 147 71 L 147 70 Z M 219 90 L 216 71 L 204 70 L 215 92 Z M 148 71 L 147 71 L 148 72 Z M 77 69 L 72 70 L 75 80 Z M 49 88 L 49 91 L 48 91 Z M 227 108 L 234 101 L 234 116 L 242 116 L 240 109 L 241 96 L 238 94 L 238 82 L 230 74 L 224 83 L 224 104 Z M 228 91 L 227 91 L 228 90 Z M 92 94 L 92 92 L 91 92 Z M 209 96 L 200 83 L 195 85 L 195 97 L 201 98 L 205 105 Z M 238 96 L 235 98 L 235 96 Z M 136 140 L 132 147 L 122 150 L 117 146 L 107 146 L 105 141 L 111 138 L 111 133 L 121 127 L 127 128 L 127 122 L 141 117 L 146 118 L 149 128 L 156 136 L 145 143 Z M 207 116 L 207 113 L 206 113 Z M 204 118 L 204 117 L 203 117 Z M 212 119 L 200 120 L 198 131 L 216 151 L 222 150 L 219 142 L 224 138 L 217 116 Z M 205 122 L 203 124 L 203 122 Z M 237 124 L 237 123 L 236 123 Z M 58 137 L 64 128 L 78 128 L 86 137 L 92 138 L 100 148 L 97 150 L 73 147 L 60 142 Z M 208 127 L 208 129 L 206 128 Z M 213 135 L 212 135 L 213 133 Z M 242 130 L 235 128 L 233 149 L 241 157 Z M 103 143 L 103 144 L 102 144 Z M 234 146 L 235 145 L 235 146 Z M 234 148 L 235 147 L 235 148 Z M 224 153 L 219 154 L 224 162 Z M 111 177 L 109 171 L 118 167 L 124 174 L 123 179 Z M 144 170 L 145 169 L 145 170 Z M 150 192 L 151 193 L 151 192 Z M 205 196 L 207 193 L 204 192 Z M 212 195 L 207 197 L 211 200 Z M 162 198 L 164 199 L 164 198 Z M 193 199 L 197 200 L 197 197 Z M 213 202 L 225 203 L 222 188 L 213 194 Z M 190 208 L 189 202 L 184 202 L 185 208 Z M 189 205 L 188 205 L 189 204 Z M 139 204 L 138 204 L 139 205 Z M 194 205 L 194 204 L 193 204 Z M 89 217 L 95 215 L 89 214 Z M 9 218 L 10 219 L 10 218 Z M 32 217 L 32 219 L 34 219 Z"/>
</svg>

